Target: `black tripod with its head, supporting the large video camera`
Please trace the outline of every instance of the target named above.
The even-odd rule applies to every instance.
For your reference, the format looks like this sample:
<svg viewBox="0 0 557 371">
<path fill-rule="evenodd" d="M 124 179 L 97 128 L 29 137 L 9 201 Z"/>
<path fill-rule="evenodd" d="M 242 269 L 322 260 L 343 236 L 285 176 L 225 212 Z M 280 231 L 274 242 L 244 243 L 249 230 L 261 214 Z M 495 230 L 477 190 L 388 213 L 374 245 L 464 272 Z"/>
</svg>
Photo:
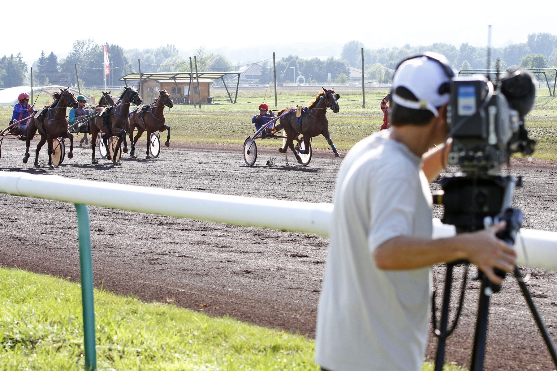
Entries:
<svg viewBox="0 0 557 371">
<path fill-rule="evenodd" d="M 514 244 L 516 233 L 519 231 L 522 224 L 522 212 L 517 209 L 509 208 L 515 184 L 515 179 L 511 176 L 452 176 L 444 178 L 442 183 L 444 191 L 442 204 L 445 206 L 443 222 L 446 224 L 454 224 L 457 228 L 457 233 L 463 233 L 483 229 L 486 217 L 498 217 L 499 220 L 505 220 L 507 222 L 507 226 L 504 230 L 497 234 L 497 237 L 511 245 Z M 464 200 L 467 202 L 463 204 L 462 201 Z M 460 264 L 465 264 L 464 282 L 462 283 L 461 297 L 455 321 L 451 328 L 447 330 L 453 269 L 456 265 Z M 433 295 L 433 333 L 438 338 L 434 368 L 435 371 L 443 370 L 446 339 L 452 334 L 453 330 L 455 330 L 458 317 L 460 316 L 462 310 L 466 290 L 467 273 L 468 261 L 455 261 L 447 264 L 447 273 L 441 306 L 441 319 L 439 321 L 438 328 L 436 321 L 435 295 Z M 501 278 L 505 278 L 504 272 L 499 271 L 497 274 L 500 275 Z M 519 283 L 520 289 L 522 290 L 522 294 L 530 307 L 530 311 L 536 320 L 536 324 L 538 325 L 540 333 L 548 347 L 551 358 L 553 358 L 553 362 L 557 366 L 557 352 L 555 351 L 553 340 L 551 340 L 549 336 L 544 321 L 538 312 L 538 308 L 536 308 L 530 291 L 528 291 L 524 279 L 517 267 L 515 267 L 514 275 Z M 492 283 L 481 270 L 478 270 L 477 279 L 481 280 L 481 288 L 470 371 L 483 370 L 489 301 L 493 293 L 497 293 L 501 290 L 501 286 Z"/>
</svg>

